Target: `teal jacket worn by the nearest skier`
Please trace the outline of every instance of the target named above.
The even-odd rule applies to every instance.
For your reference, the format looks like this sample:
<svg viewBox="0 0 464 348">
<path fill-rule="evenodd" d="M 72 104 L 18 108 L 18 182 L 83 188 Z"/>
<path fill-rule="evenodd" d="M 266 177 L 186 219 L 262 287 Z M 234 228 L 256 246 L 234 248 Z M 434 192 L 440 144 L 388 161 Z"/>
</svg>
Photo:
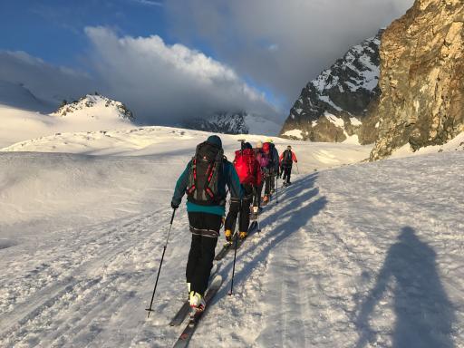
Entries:
<svg viewBox="0 0 464 348">
<path fill-rule="evenodd" d="M 182 201 L 182 197 L 184 197 L 187 187 L 189 185 L 189 172 L 190 166 L 192 161 L 190 160 L 187 164 L 186 169 L 180 174 L 178 182 L 176 184 L 176 189 L 174 189 L 174 195 L 172 196 L 172 203 L 175 205 L 180 205 Z M 240 185 L 240 180 L 238 179 L 237 171 L 234 168 L 234 165 L 230 163 L 228 160 L 224 160 L 223 163 L 223 170 L 218 180 L 218 193 L 226 198 L 227 188 L 230 191 L 231 198 L 238 198 L 241 199 L 243 192 L 242 187 Z M 208 213 L 219 215 L 221 217 L 226 215 L 226 207 L 225 206 L 200 206 L 198 204 L 187 202 L 187 211 L 188 212 L 197 212 L 197 213 Z"/>
</svg>

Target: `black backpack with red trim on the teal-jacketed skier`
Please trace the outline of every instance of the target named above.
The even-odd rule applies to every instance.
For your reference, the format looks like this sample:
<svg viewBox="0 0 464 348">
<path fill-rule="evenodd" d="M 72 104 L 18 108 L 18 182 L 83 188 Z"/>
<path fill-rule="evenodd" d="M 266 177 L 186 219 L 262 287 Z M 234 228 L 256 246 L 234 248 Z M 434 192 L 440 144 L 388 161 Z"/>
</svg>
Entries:
<svg viewBox="0 0 464 348">
<path fill-rule="evenodd" d="M 198 144 L 189 169 L 187 199 L 200 206 L 226 204 L 218 192 L 219 175 L 223 172 L 224 150 L 208 142 Z"/>
</svg>

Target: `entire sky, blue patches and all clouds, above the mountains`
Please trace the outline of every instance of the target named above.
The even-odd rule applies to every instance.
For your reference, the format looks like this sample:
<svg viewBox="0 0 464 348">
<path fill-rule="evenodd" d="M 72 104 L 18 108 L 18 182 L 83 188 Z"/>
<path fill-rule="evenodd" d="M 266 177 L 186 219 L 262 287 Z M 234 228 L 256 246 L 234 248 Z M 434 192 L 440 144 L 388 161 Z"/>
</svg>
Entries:
<svg viewBox="0 0 464 348">
<path fill-rule="evenodd" d="M 3 0 L 0 80 L 101 92 L 147 124 L 215 111 L 284 121 L 304 85 L 413 0 Z"/>
</svg>

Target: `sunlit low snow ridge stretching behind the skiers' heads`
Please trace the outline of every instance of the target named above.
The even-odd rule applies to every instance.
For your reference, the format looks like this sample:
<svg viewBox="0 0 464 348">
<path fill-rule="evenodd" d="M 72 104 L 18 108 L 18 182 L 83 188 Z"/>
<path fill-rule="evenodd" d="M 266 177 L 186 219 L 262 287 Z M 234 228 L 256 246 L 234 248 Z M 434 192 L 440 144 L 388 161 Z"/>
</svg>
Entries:
<svg viewBox="0 0 464 348">
<path fill-rule="evenodd" d="M 188 159 L 189 156 L 192 156 L 192 149 L 195 149 L 198 142 L 206 140 L 208 135 L 210 135 L 208 132 L 170 127 L 73 132 L 21 141 L 0 149 L 0 151 L 68 152 L 120 156 L 171 153 L 183 154 Z M 244 138 L 252 144 L 255 144 L 257 140 L 266 141 L 272 139 L 279 151 L 285 150 L 287 145 L 292 145 L 299 160 L 299 169 L 302 172 L 359 162 L 365 160 L 372 149 L 370 146 L 309 143 L 256 134 L 220 134 L 220 137 L 223 140 L 225 153 L 229 159 L 233 159 L 234 152 L 239 147 L 238 140 Z"/>
</svg>

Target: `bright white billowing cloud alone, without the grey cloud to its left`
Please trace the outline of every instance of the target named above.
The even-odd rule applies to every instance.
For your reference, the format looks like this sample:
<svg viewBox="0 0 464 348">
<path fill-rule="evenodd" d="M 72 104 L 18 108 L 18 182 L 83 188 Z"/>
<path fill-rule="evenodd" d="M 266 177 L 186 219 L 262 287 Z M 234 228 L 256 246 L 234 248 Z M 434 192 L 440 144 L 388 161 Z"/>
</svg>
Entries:
<svg viewBox="0 0 464 348">
<path fill-rule="evenodd" d="M 141 121 L 172 124 L 215 111 L 276 114 L 234 70 L 185 45 L 168 45 L 157 35 L 119 37 L 104 27 L 85 33 L 102 91 L 127 102 Z"/>
</svg>

